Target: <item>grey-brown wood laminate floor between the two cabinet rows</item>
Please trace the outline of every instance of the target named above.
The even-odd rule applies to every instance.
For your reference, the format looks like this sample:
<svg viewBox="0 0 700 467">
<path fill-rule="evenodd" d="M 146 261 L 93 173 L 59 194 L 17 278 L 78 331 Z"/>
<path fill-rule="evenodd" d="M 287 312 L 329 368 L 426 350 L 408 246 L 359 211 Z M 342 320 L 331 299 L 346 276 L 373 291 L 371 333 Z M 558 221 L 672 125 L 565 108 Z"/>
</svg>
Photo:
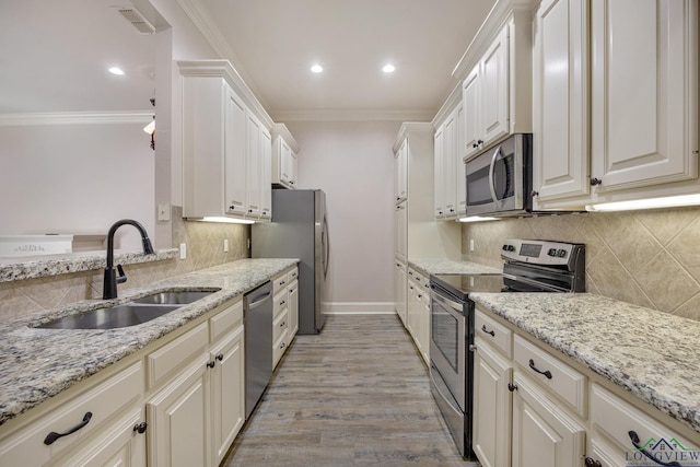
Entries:
<svg viewBox="0 0 700 467">
<path fill-rule="evenodd" d="M 396 315 L 298 336 L 223 466 L 462 466 Z"/>
</svg>

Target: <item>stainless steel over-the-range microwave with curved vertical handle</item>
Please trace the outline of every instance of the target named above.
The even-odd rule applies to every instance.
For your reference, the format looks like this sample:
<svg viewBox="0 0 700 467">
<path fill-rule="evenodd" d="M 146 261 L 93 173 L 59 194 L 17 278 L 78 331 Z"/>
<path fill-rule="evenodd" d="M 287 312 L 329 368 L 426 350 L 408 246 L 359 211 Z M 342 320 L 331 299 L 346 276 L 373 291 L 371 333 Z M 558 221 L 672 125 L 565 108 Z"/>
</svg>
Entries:
<svg viewBox="0 0 700 467">
<path fill-rule="evenodd" d="M 513 135 L 465 163 L 467 215 L 521 215 L 533 210 L 533 135 Z"/>
</svg>

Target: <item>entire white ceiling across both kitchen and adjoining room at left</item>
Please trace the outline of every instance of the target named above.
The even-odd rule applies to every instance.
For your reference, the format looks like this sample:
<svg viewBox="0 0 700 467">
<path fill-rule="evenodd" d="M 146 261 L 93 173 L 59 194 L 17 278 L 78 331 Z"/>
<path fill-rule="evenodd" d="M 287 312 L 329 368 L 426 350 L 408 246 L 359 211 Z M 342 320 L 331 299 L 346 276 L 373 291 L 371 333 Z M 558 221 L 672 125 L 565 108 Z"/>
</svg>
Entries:
<svg viewBox="0 0 700 467">
<path fill-rule="evenodd" d="M 173 0 L 175 1 L 175 0 Z M 149 110 L 154 39 L 113 4 L 22 0 L 0 14 L 0 114 Z M 177 0 L 276 121 L 430 120 L 494 0 Z M 314 74 L 312 63 L 324 72 Z M 396 67 L 383 73 L 383 65 Z M 106 69 L 120 66 L 126 74 Z"/>
</svg>

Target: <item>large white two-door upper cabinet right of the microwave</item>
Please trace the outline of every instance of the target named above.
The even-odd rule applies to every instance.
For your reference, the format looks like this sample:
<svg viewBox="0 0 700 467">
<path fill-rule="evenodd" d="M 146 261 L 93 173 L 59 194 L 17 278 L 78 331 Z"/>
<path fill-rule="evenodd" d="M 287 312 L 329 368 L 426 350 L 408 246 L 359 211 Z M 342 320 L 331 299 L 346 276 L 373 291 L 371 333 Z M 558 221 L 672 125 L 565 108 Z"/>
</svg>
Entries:
<svg viewBox="0 0 700 467">
<path fill-rule="evenodd" d="M 698 191 L 697 1 L 546 0 L 534 32 L 535 209 Z"/>
</svg>

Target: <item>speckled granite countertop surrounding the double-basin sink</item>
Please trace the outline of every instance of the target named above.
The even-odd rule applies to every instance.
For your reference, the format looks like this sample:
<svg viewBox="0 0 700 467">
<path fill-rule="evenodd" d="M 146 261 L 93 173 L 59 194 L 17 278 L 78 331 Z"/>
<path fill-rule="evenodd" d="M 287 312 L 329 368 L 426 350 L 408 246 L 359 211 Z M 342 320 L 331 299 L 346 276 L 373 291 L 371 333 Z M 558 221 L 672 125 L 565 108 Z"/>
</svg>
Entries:
<svg viewBox="0 0 700 467">
<path fill-rule="evenodd" d="M 241 259 L 129 289 L 115 300 L 88 300 L 1 324 L 0 425 L 296 262 L 298 259 Z M 31 327 L 174 288 L 221 290 L 137 326 L 105 330 Z"/>
</svg>

